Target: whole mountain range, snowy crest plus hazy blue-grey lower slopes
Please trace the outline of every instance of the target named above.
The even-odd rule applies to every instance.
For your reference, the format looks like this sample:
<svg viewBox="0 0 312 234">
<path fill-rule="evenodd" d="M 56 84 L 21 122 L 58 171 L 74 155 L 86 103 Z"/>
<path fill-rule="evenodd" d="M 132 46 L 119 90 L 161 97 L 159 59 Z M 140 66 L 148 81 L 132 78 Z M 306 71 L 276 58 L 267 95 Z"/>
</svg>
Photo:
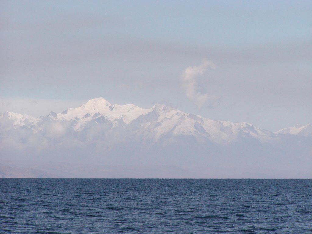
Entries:
<svg viewBox="0 0 312 234">
<path fill-rule="evenodd" d="M 0 150 L 1 160 L 141 168 L 141 177 L 153 168 L 161 171 L 160 165 L 178 167 L 181 173 L 187 170 L 183 171 L 186 177 L 192 173 L 210 178 L 248 173 L 312 177 L 311 124 L 272 133 L 245 122 L 214 121 L 166 105 L 142 109 L 133 104 L 111 105 L 103 98 L 37 119 L 1 114 Z"/>
</svg>

